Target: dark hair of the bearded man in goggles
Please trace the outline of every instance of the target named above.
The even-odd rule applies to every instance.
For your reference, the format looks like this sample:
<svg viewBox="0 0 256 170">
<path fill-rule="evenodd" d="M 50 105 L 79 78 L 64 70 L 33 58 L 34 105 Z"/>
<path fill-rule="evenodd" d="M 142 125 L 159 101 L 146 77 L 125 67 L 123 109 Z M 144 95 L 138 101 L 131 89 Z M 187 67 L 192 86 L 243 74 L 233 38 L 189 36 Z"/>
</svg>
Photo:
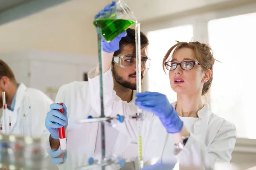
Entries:
<svg viewBox="0 0 256 170">
<path fill-rule="evenodd" d="M 122 52 L 123 47 L 125 45 L 132 44 L 135 47 L 135 30 L 132 29 L 132 28 L 128 28 L 126 30 L 126 32 L 127 32 L 127 36 L 126 37 L 122 37 L 122 39 L 120 40 L 120 42 L 119 42 L 119 50 L 114 52 L 114 56 L 119 55 Z M 146 46 L 148 46 L 148 44 L 149 44 L 149 41 L 148 41 L 147 36 L 143 32 L 140 32 L 140 45 L 141 45 L 141 49 L 143 49 Z M 135 48 L 134 48 L 134 52 L 133 53 L 135 55 Z"/>
</svg>

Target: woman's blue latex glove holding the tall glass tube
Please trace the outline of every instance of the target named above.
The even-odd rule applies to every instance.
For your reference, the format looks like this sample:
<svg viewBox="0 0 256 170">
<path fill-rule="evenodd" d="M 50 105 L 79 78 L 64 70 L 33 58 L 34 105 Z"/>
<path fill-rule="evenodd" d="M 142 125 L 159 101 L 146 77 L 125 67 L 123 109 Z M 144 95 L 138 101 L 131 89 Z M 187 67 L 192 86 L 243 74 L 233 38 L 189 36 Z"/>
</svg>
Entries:
<svg viewBox="0 0 256 170">
<path fill-rule="evenodd" d="M 183 127 L 177 112 L 169 103 L 166 95 L 157 92 L 136 94 L 135 104 L 144 111 L 154 113 L 159 117 L 168 133 L 178 133 Z"/>
</svg>

